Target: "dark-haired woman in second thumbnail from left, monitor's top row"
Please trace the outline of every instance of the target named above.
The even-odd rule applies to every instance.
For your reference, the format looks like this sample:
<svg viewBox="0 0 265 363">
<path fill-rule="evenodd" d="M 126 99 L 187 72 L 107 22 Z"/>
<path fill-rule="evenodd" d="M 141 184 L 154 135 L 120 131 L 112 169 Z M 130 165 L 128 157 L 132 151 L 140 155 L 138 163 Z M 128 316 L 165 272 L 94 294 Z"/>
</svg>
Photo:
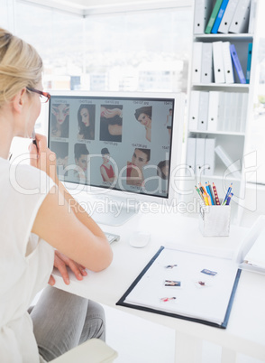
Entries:
<svg viewBox="0 0 265 363">
<path fill-rule="evenodd" d="M 80 105 L 78 108 L 78 140 L 95 139 L 95 105 Z"/>
</svg>

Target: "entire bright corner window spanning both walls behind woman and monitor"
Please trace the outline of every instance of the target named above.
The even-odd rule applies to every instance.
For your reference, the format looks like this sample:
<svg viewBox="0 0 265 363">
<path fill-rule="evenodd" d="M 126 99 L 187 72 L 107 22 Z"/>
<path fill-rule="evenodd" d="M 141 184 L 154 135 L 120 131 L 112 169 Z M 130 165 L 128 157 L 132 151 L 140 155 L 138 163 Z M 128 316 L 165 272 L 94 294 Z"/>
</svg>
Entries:
<svg viewBox="0 0 265 363">
<path fill-rule="evenodd" d="M 16 33 L 32 43 L 52 89 L 186 91 L 191 7 L 82 18 L 17 1 Z"/>
</svg>

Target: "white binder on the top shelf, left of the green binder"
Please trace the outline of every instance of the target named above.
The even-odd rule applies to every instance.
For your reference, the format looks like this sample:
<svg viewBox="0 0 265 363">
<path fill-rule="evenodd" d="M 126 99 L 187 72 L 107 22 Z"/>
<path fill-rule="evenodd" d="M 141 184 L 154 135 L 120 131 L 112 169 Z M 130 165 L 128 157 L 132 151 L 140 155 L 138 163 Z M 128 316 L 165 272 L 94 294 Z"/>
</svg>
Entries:
<svg viewBox="0 0 265 363">
<path fill-rule="evenodd" d="M 194 13 L 194 32 L 195 34 L 204 34 L 207 21 L 211 15 L 213 7 L 212 0 L 196 0 Z"/>
</svg>

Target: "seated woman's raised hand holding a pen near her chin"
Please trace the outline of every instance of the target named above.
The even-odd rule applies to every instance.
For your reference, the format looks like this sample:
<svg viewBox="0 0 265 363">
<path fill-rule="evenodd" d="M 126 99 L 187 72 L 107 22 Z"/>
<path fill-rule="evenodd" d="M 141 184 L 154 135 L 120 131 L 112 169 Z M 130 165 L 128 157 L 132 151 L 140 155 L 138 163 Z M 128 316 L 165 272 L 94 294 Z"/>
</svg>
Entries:
<svg viewBox="0 0 265 363">
<path fill-rule="evenodd" d="M 56 154 L 47 147 L 47 137 L 36 134 L 36 144 L 30 144 L 31 165 L 46 172 L 58 184 Z"/>
</svg>

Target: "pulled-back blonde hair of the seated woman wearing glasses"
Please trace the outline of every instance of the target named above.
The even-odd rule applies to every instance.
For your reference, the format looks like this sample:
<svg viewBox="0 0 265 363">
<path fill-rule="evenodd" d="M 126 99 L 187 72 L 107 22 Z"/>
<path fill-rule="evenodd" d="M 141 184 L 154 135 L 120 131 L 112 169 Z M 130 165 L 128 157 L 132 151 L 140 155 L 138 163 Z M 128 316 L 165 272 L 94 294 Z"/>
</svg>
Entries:
<svg viewBox="0 0 265 363">
<path fill-rule="evenodd" d="M 42 61 L 32 45 L 0 28 L 0 107 L 41 81 Z"/>
</svg>

